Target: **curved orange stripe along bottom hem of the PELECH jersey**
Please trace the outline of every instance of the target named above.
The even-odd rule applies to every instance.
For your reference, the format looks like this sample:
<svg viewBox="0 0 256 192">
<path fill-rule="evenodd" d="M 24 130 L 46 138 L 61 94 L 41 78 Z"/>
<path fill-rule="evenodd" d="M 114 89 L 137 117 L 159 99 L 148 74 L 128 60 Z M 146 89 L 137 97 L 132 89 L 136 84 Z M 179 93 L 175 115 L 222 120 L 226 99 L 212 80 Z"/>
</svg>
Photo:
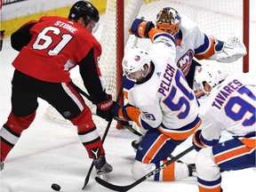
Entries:
<svg viewBox="0 0 256 192">
<path fill-rule="evenodd" d="M 201 126 L 202 120 L 196 124 L 195 127 L 192 129 L 186 130 L 186 131 L 180 131 L 177 130 L 177 132 L 174 132 L 173 130 L 167 130 L 167 129 L 161 129 L 161 127 L 157 128 L 160 132 L 162 132 L 164 135 L 167 135 L 168 137 L 172 138 L 172 140 L 186 140 L 190 135 L 192 135 L 196 130 Z"/>
</svg>

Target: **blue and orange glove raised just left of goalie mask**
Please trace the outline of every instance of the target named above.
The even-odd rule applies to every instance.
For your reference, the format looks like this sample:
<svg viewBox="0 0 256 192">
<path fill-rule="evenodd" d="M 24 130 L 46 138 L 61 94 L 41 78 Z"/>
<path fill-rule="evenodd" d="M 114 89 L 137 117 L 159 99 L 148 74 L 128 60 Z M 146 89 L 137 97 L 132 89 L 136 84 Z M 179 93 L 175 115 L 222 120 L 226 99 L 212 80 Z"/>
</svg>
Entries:
<svg viewBox="0 0 256 192">
<path fill-rule="evenodd" d="M 132 28 L 129 28 L 130 34 L 138 36 L 140 38 L 148 38 L 148 32 L 151 28 L 155 28 L 152 21 L 136 19 L 132 22 Z"/>
</svg>

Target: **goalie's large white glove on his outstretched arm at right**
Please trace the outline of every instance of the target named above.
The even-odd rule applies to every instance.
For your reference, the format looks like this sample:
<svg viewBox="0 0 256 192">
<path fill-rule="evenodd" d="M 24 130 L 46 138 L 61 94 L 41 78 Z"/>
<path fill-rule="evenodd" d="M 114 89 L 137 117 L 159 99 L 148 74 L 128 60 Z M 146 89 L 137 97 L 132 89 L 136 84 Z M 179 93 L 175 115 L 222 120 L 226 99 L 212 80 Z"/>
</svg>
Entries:
<svg viewBox="0 0 256 192">
<path fill-rule="evenodd" d="M 214 49 L 215 53 L 208 60 L 222 63 L 234 62 L 247 54 L 244 43 L 238 37 L 231 37 L 228 42 L 217 40 Z"/>
</svg>

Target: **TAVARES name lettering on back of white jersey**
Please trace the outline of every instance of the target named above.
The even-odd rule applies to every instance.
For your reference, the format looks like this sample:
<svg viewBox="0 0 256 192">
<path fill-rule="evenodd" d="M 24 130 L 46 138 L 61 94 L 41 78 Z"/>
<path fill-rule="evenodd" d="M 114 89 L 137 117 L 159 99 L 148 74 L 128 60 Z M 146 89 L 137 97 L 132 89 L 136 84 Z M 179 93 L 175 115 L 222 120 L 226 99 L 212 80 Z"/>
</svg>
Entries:
<svg viewBox="0 0 256 192">
<path fill-rule="evenodd" d="M 221 109 L 223 103 L 225 102 L 225 100 L 227 100 L 228 96 L 242 86 L 243 84 L 235 79 L 232 82 L 228 83 L 226 86 L 222 87 L 222 89 L 219 91 L 214 101 L 212 102 L 212 107 Z"/>
</svg>

